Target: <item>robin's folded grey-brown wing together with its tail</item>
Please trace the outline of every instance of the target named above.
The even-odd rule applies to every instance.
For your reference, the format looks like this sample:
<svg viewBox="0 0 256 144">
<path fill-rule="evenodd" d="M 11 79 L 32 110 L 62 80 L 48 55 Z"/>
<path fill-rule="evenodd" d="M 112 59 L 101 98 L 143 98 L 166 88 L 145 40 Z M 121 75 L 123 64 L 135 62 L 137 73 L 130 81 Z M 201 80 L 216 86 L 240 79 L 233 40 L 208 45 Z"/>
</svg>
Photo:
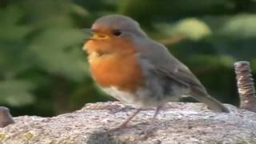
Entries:
<svg viewBox="0 0 256 144">
<path fill-rule="evenodd" d="M 163 77 L 172 79 L 180 86 L 188 86 L 191 96 L 200 102 L 206 103 L 212 110 L 219 112 L 229 111 L 216 99 L 210 97 L 198 78 L 182 62 L 174 58 L 165 46 L 152 40 L 146 43 L 141 48 L 142 54 L 140 56 L 146 59 L 146 62 L 150 62 L 150 69 L 154 69 L 156 73 L 162 74 Z"/>
</svg>

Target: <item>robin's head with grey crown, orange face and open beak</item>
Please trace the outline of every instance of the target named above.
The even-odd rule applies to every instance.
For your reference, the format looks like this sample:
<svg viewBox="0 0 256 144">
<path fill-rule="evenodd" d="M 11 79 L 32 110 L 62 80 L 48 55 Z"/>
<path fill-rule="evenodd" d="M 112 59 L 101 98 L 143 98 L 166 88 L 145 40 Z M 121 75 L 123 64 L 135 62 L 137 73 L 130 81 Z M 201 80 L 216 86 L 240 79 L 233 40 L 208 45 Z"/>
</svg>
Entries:
<svg viewBox="0 0 256 144">
<path fill-rule="evenodd" d="M 140 28 L 138 22 L 123 15 L 108 15 L 98 18 L 90 29 L 93 35 L 87 39 L 84 46 L 89 54 L 97 51 L 98 53 L 111 53 L 122 50 L 130 51 L 134 40 L 145 38 L 146 33 Z"/>
</svg>

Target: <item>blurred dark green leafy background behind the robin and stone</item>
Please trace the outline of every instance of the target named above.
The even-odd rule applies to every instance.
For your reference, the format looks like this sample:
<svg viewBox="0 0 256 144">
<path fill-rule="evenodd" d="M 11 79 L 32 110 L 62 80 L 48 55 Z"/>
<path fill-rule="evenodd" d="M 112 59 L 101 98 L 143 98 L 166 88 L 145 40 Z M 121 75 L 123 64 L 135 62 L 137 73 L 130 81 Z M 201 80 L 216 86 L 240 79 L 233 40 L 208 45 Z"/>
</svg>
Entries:
<svg viewBox="0 0 256 144">
<path fill-rule="evenodd" d="M 256 79 L 256 0 L 1 0 L 0 105 L 52 116 L 114 100 L 82 51 L 82 29 L 106 14 L 140 22 L 222 102 L 238 106 L 234 62 L 249 61 Z"/>
</svg>

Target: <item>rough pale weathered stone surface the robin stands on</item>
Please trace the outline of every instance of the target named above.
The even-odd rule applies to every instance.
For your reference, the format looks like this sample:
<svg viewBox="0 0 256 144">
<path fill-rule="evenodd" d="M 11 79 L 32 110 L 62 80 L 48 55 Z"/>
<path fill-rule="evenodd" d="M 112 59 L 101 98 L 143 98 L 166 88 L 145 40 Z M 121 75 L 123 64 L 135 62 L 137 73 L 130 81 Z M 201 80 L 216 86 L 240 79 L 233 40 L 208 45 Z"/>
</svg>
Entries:
<svg viewBox="0 0 256 144">
<path fill-rule="evenodd" d="M 21 116 L 0 128 L 0 143 L 256 143 L 256 114 L 226 105 L 229 114 L 214 113 L 200 103 L 166 104 L 158 120 L 143 110 L 129 128 L 108 132 L 134 109 L 119 102 L 88 104 L 53 118 Z"/>
</svg>

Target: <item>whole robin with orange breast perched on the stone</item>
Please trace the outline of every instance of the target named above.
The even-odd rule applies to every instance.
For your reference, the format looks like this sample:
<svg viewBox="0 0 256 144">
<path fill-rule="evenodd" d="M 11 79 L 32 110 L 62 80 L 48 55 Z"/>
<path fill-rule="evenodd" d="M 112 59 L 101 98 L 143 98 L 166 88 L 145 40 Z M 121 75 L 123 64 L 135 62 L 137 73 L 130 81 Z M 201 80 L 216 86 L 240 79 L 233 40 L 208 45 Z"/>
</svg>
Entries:
<svg viewBox="0 0 256 144">
<path fill-rule="evenodd" d="M 149 38 L 138 22 L 123 15 L 98 18 L 83 49 L 88 54 L 95 82 L 106 92 L 137 111 L 190 95 L 216 112 L 229 110 L 207 93 L 192 72 L 162 44 Z"/>
</svg>

